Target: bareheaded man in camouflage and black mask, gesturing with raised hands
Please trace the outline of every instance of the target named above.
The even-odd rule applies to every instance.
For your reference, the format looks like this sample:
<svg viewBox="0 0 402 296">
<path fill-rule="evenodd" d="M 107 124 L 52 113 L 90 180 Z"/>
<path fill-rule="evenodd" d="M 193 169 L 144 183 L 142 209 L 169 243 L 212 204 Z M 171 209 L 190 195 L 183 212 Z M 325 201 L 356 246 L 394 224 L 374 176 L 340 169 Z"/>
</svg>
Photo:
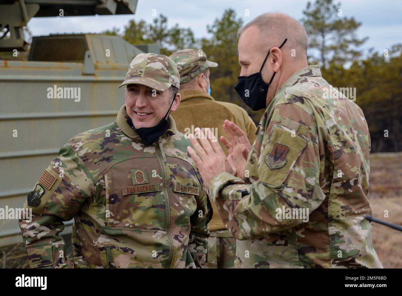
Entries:
<svg viewBox="0 0 402 296">
<path fill-rule="evenodd" d="M 226 121 L 231 162 L 208 140 L 201 147 L 191 139 L 199 156 L 188 148 L 238 239 L 236 267 L 382 267 L 365 219 L 370 136 L 363 112 L 331 94 L 318 66 L 307 65 L 307 34 L 291 17 L 263 14 L 239 33 L 240 77 L 261 75 L 267 83 L 277 74 L 268 90 L 261 83 L 257 95 L 248 89 L 251 102 L 260 98 L 266 106 L 257 139 L 251 147 Z"/>
</svg>

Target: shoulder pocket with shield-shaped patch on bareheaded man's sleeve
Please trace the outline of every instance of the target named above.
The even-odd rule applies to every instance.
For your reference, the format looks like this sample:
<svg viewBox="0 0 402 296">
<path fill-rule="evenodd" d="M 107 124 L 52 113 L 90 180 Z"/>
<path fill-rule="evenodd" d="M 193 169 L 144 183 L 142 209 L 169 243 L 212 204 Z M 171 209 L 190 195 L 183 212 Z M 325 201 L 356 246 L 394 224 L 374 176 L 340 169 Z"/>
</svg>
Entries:
<svg viewBox="0 0 402 296">
<path fill-rule="evenodd" d="M 308 138 L 283 125 L 273 124 L 271 135 L 258 164 L 259 180 L 270 187 L 281 187 Z"/>
</svg>

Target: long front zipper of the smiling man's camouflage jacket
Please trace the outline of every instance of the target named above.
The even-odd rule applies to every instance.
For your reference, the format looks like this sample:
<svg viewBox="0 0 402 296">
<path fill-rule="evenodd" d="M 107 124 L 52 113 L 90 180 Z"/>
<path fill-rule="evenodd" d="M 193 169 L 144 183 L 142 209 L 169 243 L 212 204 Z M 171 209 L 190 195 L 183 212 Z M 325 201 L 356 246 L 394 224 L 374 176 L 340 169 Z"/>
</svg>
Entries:
<svg viewBox="0 0 402 296">
<path fill-rule="evenodd" d="M 159 149 L 158 149 L 159 148 Z M 172 240 L 172 235 L 170 232 L 170 201 L 169 201 L 169 195 L 168 195 L 168 185 L 167 185 L 167 175 L 166 175 L 166 157 L 163 152 L 163 145 L 162 145 L 162 139 L 159 138 L 159 145 L 156 145 L 156 151 L 160 152 L 160 155 L 156 153 L 156 156 L 158 157 L 160 167 L 162 169 L 162 182 L 163 182 L 163 192 L 164 192 L 164 197 L 165 197 L 165 205 L 166 205 L 166 234 L 169 240 L 169 257 L 168 257 L 168 263 L 166 264 L 167 268 L 170 268 L 170 264 L 172 263 L 172 253 L 173 253 L 173 240 Z"/>
</svg>

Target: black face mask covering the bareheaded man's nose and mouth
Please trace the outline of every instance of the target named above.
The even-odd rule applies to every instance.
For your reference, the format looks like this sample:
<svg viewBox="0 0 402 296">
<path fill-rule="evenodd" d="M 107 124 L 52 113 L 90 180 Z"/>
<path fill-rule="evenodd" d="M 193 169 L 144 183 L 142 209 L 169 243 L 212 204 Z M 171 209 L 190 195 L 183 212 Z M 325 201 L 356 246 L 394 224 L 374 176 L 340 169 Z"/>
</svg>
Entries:
<svg viewBox="0 0 402 296">
<path fill-rule="evenodd" d="M 285 41 L 283 41 L 279 48 L 281 48 L 286 41 L 287 38 L 285 39 Z M 269 51 L 271 51 L 271 49 Z M 263 80 L 263 76 L 261 76 L 261 70 L 263 70 L 265 61 L 267 60 L 269 55 L 269 51 L 267 56 L 265 57 L 263 65 L 260 68 L 260 72 L 256 72 L 250 76 L 239 76 L 238 83 L 234 86 L 234 89 L 240 95 L 244 103 L 246 103 L 246 105 L 250 107 L 253 111 L 265 109 L 267 107 L 266 101 L 268 87 L 276 74 L 276 72 L 274 72 L 271 80 L 269 80 L 269 83 L 265 83 Z M 248 92 L 246 92 L 247 90 Z M 246 97 L 246 95 L 248 96 Z"/>
</svg>

